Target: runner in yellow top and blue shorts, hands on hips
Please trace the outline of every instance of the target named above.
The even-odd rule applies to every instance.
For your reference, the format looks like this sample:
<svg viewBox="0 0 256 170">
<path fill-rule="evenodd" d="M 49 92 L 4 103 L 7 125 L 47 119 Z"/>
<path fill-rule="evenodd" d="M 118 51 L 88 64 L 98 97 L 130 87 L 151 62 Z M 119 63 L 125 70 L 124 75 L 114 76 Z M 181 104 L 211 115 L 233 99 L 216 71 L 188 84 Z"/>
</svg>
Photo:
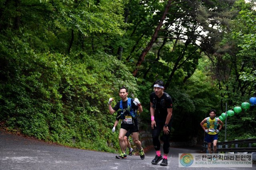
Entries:
<svg viewBox="0 0 256 170">
<path fill-rule="evenodd" d="M 210 111 L 210 117 L 206 117 L 201 123 L 201 127 L 206 132 L 206 136 L 204 140 L 208 143 L 208 152 L 211 154 L 211 146 L 213 142 L 213 152 L 217 151 L 217 142 L 218 142 L 218 133 L 223 126 L 223 123 L 216 116 L 216 110 L 212 109 Z M 204 123 L 206 123 L 206 128 L 204 127 Z M 220 124 L 220 128 L 217 129 L 218 124 Z"/>
</svg>

